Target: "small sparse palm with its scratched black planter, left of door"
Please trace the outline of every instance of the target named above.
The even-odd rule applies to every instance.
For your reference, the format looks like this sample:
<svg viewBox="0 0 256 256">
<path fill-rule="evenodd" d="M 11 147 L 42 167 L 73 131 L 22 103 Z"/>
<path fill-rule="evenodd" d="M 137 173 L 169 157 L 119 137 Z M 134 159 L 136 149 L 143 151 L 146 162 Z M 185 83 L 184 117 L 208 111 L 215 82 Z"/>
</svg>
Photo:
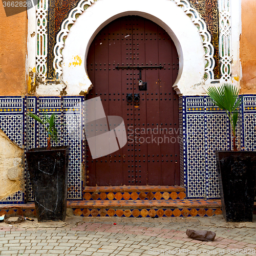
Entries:
<svg viewBox="0 0 256 256">
<path fill-rule="evenodd" d="M 51 146 L 52 141 L 58 142 L 56 114 L 49 117 L 44 110 L 42 118 L 31 112 L 27 115 L 43 125 L 47 132 L 47 147 L 32 148 L 26 153 L 37 219 L 39 222 L 64 221 L 67 210 L 69 146 Z"/>
</svg>

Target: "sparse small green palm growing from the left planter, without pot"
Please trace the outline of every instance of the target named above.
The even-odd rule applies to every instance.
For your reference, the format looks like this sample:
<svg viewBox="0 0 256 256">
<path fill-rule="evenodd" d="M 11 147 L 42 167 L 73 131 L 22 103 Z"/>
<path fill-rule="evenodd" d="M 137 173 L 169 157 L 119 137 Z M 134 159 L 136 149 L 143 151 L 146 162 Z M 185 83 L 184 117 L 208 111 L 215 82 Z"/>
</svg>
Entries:
<svg viewBox="0 0 256 256">
<path fill-rule="evenodd" d="M 51 140 L 54 140 L 56 143 L 58 142 L 58 131 L 56 129 L 56 122 L 58 119 L 57 114 L 52 114 L 51 117 L 49 117 L 47 112 L 44 110 L 42 111 L 42 119 L 31 112 L 28 112 L 27 115 L 44 125 L 44 128 L 48 134 L 47 150 L 51 150 Z"/>
</svg>

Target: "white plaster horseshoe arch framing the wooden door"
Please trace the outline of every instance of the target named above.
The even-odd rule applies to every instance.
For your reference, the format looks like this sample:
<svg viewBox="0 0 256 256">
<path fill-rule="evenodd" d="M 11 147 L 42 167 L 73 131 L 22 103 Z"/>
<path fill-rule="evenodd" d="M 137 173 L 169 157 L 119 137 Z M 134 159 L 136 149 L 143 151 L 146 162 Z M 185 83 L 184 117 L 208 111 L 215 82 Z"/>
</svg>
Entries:
<svg viewBox="0 0 256 256">
<path fill-rule="evenodd" d="M 91 2 L 88 3 L 91 5 Z M 67 86 L 68 95 L 90 90 L 92 82 L 84 67 L 91 42 L 106 24 L 126 15 L 151 19 L 166 30 L 175 43 L 180 59 L 175 90 L 180 95 L 204 94 L 205 49 L 198 28 L 183 9 L 171 0 L 98 0 L 91 5 L 77 18 L 62 50 L 62 81 Z M 55 51 L 58 50 L 55 47 Z M 214 63 L 210 63 L 212 65 Z"/>
</svg>

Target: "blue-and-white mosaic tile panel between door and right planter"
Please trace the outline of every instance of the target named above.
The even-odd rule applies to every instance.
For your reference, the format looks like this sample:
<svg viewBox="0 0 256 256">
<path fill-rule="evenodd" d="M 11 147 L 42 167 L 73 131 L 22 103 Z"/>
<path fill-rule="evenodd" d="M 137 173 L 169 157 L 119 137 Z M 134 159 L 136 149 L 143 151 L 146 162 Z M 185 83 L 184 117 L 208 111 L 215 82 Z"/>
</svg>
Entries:
<svg viewBox="0 0 256 256">
<path fill-rule="evenodd" d="M 215 150 L 227 150 L 230 146 L 227 116 L 218 108 L 211 108 L 212 103 L 207 96 L 183 98 L 187 198 L 219 198 Z"/>
</svg>

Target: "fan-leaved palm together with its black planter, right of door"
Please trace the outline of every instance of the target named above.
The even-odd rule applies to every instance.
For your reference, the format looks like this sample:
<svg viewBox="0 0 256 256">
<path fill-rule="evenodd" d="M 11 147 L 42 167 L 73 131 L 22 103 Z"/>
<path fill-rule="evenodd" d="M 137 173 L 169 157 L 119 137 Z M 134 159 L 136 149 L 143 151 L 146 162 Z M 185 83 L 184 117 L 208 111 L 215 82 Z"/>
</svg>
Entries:
<svg viewBox="0 0 256 256">
<path fill-rule="evenodd" d="M 256 152 L 238 151 L 236 144 L 238 108 L 243 97 L 238 97 L 239 90 L 227 83 L 219 88 L 209 87 L 207 94 L 216 106 L 226 111 L 231 126 L 232 149 L 215 152 L 223 217 L 227 222 L 251 222 Z"/>
</svg>

